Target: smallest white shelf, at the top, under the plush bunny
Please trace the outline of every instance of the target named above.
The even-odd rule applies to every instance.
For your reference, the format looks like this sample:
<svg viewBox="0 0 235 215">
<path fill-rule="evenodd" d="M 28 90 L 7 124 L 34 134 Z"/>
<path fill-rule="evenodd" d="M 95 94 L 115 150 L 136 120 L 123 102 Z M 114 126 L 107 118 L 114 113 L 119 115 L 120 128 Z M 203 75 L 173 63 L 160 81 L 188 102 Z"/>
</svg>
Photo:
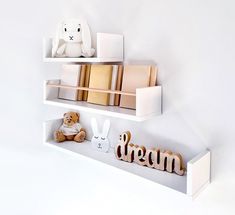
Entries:
<svg viewBox="0 0 235 215">
<path fill-rule="evenodd" d="M 59 58 L 51 56 L 52 38 L 43 40 L 43 61 L 61 63 L 118 63 L 123 61 L 123 35 L 97 33 L 96 53 L 89 58 Z"/>
</svg>

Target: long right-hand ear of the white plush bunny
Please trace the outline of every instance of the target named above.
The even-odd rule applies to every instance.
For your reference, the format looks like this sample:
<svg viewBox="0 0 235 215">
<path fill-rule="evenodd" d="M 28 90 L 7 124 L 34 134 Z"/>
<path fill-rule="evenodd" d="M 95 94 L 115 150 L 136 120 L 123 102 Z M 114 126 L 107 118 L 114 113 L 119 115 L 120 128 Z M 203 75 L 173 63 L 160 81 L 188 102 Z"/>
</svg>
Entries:
<svg viewBox="0 0 235 215">
<path fill-rule="evenodd" d="M 92 55 L 91 53 L 91 33 L 89 26 L 85 20 L 81 20 L 81 34 L 82 34 L 82 44 L 83 52 L 87 55 Z"/>
</svg>

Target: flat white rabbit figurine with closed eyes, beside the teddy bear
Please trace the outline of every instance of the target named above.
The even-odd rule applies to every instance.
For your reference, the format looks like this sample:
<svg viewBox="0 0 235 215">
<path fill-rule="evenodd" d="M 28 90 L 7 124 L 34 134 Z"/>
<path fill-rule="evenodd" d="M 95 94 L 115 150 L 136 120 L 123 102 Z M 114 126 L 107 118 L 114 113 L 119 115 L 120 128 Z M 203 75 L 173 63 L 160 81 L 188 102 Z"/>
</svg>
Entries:
<svg viewBox="0 0 235 215">
<path fill-rule="evenodd" d="M 110 148 L 108 140 L 110 121 L 105 120 L 101 133 L 98 130 L 97 121 L 95 118 L 91 119 L 91 127 L 93 131 L 93 137 L 91 139 L 92 148 L 98 151 L 108 152 Z"/>
</svg>

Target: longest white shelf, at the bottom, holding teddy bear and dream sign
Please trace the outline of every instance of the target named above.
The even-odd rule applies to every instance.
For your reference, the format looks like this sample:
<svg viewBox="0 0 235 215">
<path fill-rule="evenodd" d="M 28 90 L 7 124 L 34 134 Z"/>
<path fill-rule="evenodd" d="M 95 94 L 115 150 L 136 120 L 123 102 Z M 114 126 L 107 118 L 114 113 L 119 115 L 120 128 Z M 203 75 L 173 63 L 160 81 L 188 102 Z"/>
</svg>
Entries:
<svg viewBox="0 0 235 215">
<path fill-rule="evenodd" d="M 50 120 L 44 123 L 45 144 L 59 151 L 103 162 L 191 197 L 195 197 L 210 182 L 210 152 L 208 150 L 203 151 L 187 162 L 187 174 L 179 176 L 174 173 L 117 160 L 112 149 L 109 153 L 95 151 L 92 149 L 89 141 L 81 144 L 75 142 L 56 143 L 53 141 L 53 133 L 61 124 L 62 119 Z"/>
</svg>

